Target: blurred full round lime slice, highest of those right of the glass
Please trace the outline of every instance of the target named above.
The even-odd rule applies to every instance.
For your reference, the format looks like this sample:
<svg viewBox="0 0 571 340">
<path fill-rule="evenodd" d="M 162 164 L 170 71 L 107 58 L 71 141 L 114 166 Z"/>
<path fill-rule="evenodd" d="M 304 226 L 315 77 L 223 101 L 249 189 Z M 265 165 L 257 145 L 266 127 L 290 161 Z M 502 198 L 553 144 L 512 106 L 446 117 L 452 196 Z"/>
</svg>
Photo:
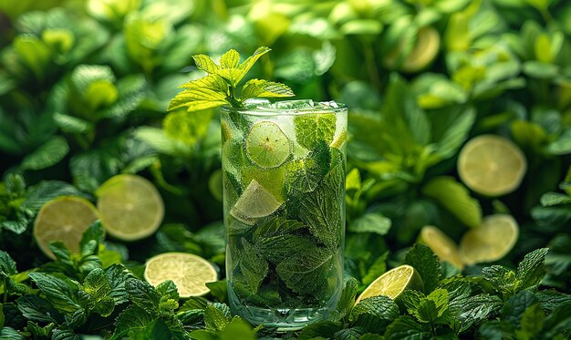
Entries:
<svg viewBox="0 0 571 340">
<path fill-rule="evenodd" d="M 458 157 L 460 179 L 472 191 L 486 196 L 501 196 L 517 189 L 526 168 L 522 150 L 494 135 L 471 139 Z"/>
</svg>

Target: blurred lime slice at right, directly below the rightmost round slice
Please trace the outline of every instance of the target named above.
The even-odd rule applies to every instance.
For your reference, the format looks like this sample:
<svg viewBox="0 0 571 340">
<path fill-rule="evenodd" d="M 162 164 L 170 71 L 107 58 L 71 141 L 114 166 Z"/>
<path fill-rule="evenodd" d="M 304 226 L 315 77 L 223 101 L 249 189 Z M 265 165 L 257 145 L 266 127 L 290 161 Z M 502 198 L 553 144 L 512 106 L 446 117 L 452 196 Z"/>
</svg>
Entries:
<svg viewBox="0 0 571 340">
<path fill-rule="evenodd" d="M 518 235 L 519 227 L 511 215 L 487 216 L 480 227 L 472 228 L 462 236 L 460 258 L 466 264 L 500 260 L 514 248 Z"/>
</svg>

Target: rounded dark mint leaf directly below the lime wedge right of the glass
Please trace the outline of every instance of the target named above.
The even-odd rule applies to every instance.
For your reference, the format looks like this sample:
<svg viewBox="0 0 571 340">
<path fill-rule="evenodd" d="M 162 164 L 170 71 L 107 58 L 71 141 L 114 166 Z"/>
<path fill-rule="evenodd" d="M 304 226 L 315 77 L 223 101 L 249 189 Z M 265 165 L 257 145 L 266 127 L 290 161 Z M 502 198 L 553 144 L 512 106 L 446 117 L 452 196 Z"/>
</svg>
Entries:
<svg viewBox="0 0 571 340">
<path fill-rule="evenodd" d="M 389 297 L 379 295 L 360 301 L 351 311 L 351 325 L 363 327 L 368 332 L 379 332 L 399 317 L 399 306 Z"/>
</svg>

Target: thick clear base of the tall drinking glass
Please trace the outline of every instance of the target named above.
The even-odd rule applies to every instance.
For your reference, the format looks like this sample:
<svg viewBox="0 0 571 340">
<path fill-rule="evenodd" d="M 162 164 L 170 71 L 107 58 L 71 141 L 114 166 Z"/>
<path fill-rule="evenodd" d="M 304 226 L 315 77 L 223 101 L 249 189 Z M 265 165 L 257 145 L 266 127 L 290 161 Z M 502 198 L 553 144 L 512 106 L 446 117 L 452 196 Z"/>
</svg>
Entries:
<svg viewBox="0 0 571 340">
<path fill-rule="evenodd" d="M 338 292 L 340 293 L 340 292 Z M 306 325 L 327 318 L 328 314 L 335 309 L 339 294 L 333 294 L 327 305 L 321 308 L 262 308 L 244 305 L 234 294 L 228 290 L 230 309 L 232 314 L 242 316 L 252 325 L 275 328 L 277 333 L 285 333 L 302 329 Z"/>
</svg>

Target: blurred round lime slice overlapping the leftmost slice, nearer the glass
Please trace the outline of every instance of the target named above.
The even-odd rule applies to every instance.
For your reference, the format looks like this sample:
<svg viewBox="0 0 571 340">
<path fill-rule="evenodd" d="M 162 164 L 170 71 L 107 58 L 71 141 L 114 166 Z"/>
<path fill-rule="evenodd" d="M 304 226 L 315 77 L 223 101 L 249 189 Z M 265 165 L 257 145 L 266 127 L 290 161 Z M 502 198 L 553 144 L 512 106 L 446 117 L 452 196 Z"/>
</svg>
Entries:
<svg viewBox="0 0 571 340">
<path fill-rule="evenodd" d="M 156 232 L 164 216 L 159 191 L 137 175 L 118 175 L 95 192 L 105 229 L 123 241 L 136 241 Z"/>
</svg>

